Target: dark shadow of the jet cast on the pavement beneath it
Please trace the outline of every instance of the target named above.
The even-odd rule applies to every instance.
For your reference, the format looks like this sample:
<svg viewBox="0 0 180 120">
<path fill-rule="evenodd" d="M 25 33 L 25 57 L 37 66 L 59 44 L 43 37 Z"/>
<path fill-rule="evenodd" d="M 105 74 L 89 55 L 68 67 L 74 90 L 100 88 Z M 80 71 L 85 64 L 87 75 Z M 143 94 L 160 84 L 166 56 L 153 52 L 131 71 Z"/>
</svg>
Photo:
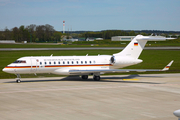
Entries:
<svg viewBox="0 0 180 120">
<path fill-rule="evenodd" d="M 28 82 L 53 82 L 53 81 L 81 81 L 81 82 L 115 82 L 115 83 L 142 83 L 142 84 L 162 84 L 162 83 L 155 83 L 155 82 L 141 82 L 141 81 L 123 81 L 123 79 L 133 79 L 133 78 L 137 78 L 137 77 L 161 77 L 161 76 L 140 76 L 140 75 L 128 75 L 125 77 L 110 77 L 110 76 L 106 76 L 103 77 L 101 76 L 101 80 L 100 81 L 94 81 L 92 78 L 89 78 L 87 80 L 83 80 L 81 79 L 80 76 L 67 76 L 64 77 L 62 79 L 47 79 L 47 80 L 38 80 L 38 79 L 34 79 L 34 80 L 22 80 L 21 83 L 28 83 Z M 9 81 L 9 82 L 5 82 L 5 83 L 16 83 L 16 81 Z"/>
</svg>

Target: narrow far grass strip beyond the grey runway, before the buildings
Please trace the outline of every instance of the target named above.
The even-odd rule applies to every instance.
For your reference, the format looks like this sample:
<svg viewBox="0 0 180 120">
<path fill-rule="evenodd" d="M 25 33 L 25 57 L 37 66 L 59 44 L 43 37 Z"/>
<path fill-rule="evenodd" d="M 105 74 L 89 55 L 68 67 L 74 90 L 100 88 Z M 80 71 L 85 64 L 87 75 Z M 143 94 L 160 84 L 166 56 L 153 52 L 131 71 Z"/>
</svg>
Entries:
<svg viewBox="0 0 180 120">
<path fill-rule="evenodd" d="M 78 41 L 70 44 L 57 43 L 28 43 L 28 44 L 0 44 L 0 48 L 68 48 L 68 47 L 125 47 L 129 41 Z M 180 46 L 180 40 L 169 41 L 149 41 L 146 46 L 163 47 L 163 46 Z"/>
</svg>

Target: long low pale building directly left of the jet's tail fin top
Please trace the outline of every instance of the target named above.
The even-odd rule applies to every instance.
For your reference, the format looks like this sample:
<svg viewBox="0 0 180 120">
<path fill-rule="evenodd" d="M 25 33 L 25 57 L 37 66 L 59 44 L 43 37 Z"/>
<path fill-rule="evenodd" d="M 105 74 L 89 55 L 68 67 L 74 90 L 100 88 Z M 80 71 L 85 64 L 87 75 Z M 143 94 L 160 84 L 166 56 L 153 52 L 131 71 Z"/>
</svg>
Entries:
<svg viewBox="0 0 180 120">
<path fill-rule="evenodd" d="M 131 41 L 135 36 L 113 36 L 111 41 Z"/>
</svg>

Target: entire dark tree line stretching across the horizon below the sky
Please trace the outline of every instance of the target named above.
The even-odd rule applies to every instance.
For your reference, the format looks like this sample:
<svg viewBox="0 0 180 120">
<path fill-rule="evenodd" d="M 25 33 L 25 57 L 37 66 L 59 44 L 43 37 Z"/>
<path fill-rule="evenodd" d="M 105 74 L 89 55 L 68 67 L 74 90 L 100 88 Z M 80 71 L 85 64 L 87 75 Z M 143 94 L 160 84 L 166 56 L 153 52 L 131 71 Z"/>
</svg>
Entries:
<svg viewBox="0 0 180 120">
<path fill-rule="evenodd" d="M 15 40 L 16 42 L 28 41 L 28 42 L 59 42 L 70 38 L 103 38 L 111 39 L 113 36 L 136 36 L 150 35 L 152 33 L 158 33 L 166 36 L 171 33 L 180 34 L 179 31 L 156 31 L 156 30 L 144 30 L 144 31 L 131 31 L 131 30 L 104 30 L 104 31 L 66 31 L 66 34 L 56 31 L 53 26 L 46 25 L 35 25 L 29 26 L 21 25 L 20 27 L 14 27 L 4 31 L 0 31 L 0 40 Z"/>
</svg>

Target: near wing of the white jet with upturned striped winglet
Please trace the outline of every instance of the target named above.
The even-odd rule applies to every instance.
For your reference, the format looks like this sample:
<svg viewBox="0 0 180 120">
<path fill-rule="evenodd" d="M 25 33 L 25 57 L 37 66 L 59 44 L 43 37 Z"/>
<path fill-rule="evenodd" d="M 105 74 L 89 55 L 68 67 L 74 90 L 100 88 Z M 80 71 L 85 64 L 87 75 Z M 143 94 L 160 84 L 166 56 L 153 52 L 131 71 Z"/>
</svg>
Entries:
<svg viewBox="0 0 180 120">
<path fill-rule="evenodd" d="M 163 69 L 95 69 L 95 70 L 69 70 L 70 74 L 88 74 L 88 73 L 112 73 L 112 72 L 146 72 L 146 71 L 166 71 L 174 61 L 172 60 Z"/>
</svg>

